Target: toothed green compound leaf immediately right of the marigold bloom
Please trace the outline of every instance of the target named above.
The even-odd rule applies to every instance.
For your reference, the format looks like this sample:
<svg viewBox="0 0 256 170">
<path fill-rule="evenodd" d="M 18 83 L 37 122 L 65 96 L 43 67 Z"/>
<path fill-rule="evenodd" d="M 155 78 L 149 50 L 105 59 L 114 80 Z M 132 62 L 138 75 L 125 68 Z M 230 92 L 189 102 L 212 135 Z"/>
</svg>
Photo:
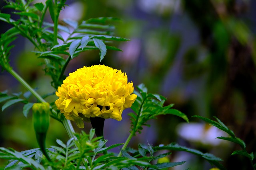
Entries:
<svg viewBox="0 0 256 170">
<path fill-rule="evenodd" d="M 142 126 L 148 126 L 148 124 L 146 124 L 147 121 L 150 119 L 156 119 L 158 115 L 176 115 L 188 122 L 188 117 L 184 113 L 176 109 L 172 109 L 174 104 L 164 106 L 166 98 L 163 96 L 148 93 L 148 89 L 144 84 L 140 84 L 137 88 L 138 91 L 134 91 L 137 95 L 137 99 L 131 107 L 135 113 L 129 113 L 131 117 L 131 133 L 134 135 L 136 135 L 136 132 L 140 133 L 143 129 Z"/>
</svg>

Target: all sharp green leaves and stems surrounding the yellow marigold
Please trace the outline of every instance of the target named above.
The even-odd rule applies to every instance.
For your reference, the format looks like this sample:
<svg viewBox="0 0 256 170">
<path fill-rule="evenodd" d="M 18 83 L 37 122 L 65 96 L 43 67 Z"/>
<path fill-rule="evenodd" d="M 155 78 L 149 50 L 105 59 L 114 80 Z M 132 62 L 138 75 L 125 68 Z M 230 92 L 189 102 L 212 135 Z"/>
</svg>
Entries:
<svg viewBox="0 0 256 170">
<path fill-rule="evenodd" d="M 113 41 L 128 41 L 128 39 L 114 36 L 114 26 L 110 25 L 113 21 L 118 21 L 116 18 L 94 18 L 78 23 L 71 20 L 63 20 L 64 25 L 60 25 L 58 17 L 62 8 L 64 8 L 66 0 L 46 0 L 46 3 L 31 4 L 32 0 L 6 1 L 5 8 L 15 10 L 14 14 L 20 16 L 18 20 L 13 20 L 10 14 L 0 12 L 0 20 L 12 25 L 0 37 L 0 65 L 2 70 L 6 70 L 12 74 L 28 92 L 22 94 L 11 94 L 7 92 L 0 93 L 0 102 L 6 102 L 2 106 L 2 111 L 18 102 L 24 103 L 23 114 L 28 115 L 28 111 L 33 103 L 30 102 L 30 96 L 37 98 L 38 102 L 45 102 L 33 88 L 30 87 L 10 66 L 9 56 L 11 45 L 17 35 L 22 35 L 28 39 L 35 47 L 34 52 L 38 58 L 44 59 L 44 71 L 52 78 L 52 86 L 57 89 L 64 80 L 64 71 L 70 60 L 78 57 L 80 53 L 87 50 L 99 50 L 100 61 L 104 59 L 107 50 L 120 51 L 117 47 L 107 44 Z M 45 22 L 44 17 L 46 11 L 50 12 L 52 23 Z M 68 38 L 64 39 L 60 35 L 60 31 L 68 33 Z M 52 146 L 47 149 L 50 159 L 41 152 L 41 149 L 31 149 L 23 152 L 18 152 L 14 149 L 0 148 L 0 158 L 10 160 L 5 167 L 6 170 L 20 170 L 29 168 L 34 170 L 157 170 L 169 168 L 184 164 L 182 162 L 165 162 L 156 163 L 155 160 L 170 155 L 172 152 L 159 154 L 160 150 L 178 150 L 185 151 L 200 156 L 210 162 L 212 165 L 225 169 L 220 161 L 222 159 L 209 154 L 203 153 L 196 149 L 190 149 L 171 143 L 169 145 L 160 145 L 157 147 L 151 145 L 139 144 L 138 149 L 127 148 L 130 139 L 141 133 L 143 126 L 147 125 L 150 119 L 156 119 L 159 115 L 176 115 L 188 122 L 188 117 L 176 110 L 172 109 L 173 104 L 165 106 L 166 98 L 158 94 L 148 93 L 147 88 L 140 84 L 137 87 L 137 99 L 132 106 L 134 113 L 130 113 L 131 128 L 130 136 L 124 144 L 114 144 L 106 147 L 107 140 L 102 137 L 96 137 L 95 130 L 91 129 L 89 134 L 82 132 L 74 134 L 72 126 L 64 116 L 54 109 L 54 104 L 51 104 L 51 116 L 63 123 L 70 139 L 66 144 L 57 140 L 58 146 Z M 46 95 L 47 96 L 47 95 Z M 199 116 L 196 116 L 199 117 Z M 232 154 L 240 154 L 246 156 L 251 162 L 254 161 L 254 153 L 246 152 L 246 146 L 242 140 L 237 138 L 234 133 L 226 127 L 220 120 L 218 122 L 210 119 L 199 117 L 202 120 L 210 123 L 227 132 L 230 137 L 218 137 L 219 139 L 228 140 L 237 143 L 242 150 L 236 150 Z M 119 154 L 110 152 L 110 149 L 122 146 Z M 252 163 L 255 169 L 255 165 Z"/>
</svg>

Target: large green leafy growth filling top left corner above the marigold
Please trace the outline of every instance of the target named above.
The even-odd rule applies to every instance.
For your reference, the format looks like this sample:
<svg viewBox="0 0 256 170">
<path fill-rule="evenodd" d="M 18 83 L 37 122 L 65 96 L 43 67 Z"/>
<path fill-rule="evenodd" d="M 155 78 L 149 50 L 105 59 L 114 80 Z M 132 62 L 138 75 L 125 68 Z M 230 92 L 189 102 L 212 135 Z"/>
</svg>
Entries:
<svg viewBox="0 0 256 170">
<path fill-rule="evenodd" d="M 115 37 L 114 26 L 110 23 L 118 21 L 116 18 L 94 18 L 78 23 L 78 21 L 63 20 L 59 24 L 58 16 L 65 7 L 66 0 L 46 0 L 45 4 L 31 4 L 32 0 L 6 1 L 4 8 L 12 8 L 17 20 L 12 15 L 0 12 L 0 20 L 13 26 L 0 38 L 0 64 L 9 68 L 8 55 L 12 46 L 8 45 L 20 34 L 28 39 L 35 47 L 38 58 L 45 61 L 45 72 L 52 78 L 52 86 L 57 89 L 65 78 L 64 71 L 71 59 L 87 50 L 99 50 L 100 61 L 104 59 L 107 49 L 120 51 L 110 44 L 113 41 L 128 41 L 128 39 Z M 45 22 L 46 11 L 49 11 L 52 23 Z M 62 33 L 68 34 L 64 38 Z M 8 41 L 6 41 L 8 40 Z"/>
</svg>

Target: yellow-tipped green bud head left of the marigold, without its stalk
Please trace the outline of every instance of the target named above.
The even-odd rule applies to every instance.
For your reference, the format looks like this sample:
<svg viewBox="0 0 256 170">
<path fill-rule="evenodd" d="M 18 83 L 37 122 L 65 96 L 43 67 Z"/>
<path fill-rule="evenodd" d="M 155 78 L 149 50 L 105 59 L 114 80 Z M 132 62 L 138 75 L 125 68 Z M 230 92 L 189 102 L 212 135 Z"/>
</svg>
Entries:
<svg viewBox="0 0 256 170">
<path fill-rule="evenodd" d="M 32 110 L 36 133 L 46 133 L 50 124 L 50 105 L 48 103 L 35 103 Z"/>
</svg>

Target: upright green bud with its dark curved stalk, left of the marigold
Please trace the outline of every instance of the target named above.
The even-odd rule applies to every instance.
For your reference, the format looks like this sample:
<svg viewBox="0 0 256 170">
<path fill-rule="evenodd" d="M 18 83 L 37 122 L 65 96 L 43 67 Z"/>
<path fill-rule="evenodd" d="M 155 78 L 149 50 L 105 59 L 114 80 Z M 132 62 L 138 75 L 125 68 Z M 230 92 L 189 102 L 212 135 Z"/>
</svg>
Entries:
<svg viewBox="0 0 256 170">
<path fill-rule="evenodd" d="M 46 102 L 35 103 L 32 111 L 37 143 L 44 156 L 51 161 L 45 147 L 46 133 L 50 124 L 50 105 Z"/>
</svg>

